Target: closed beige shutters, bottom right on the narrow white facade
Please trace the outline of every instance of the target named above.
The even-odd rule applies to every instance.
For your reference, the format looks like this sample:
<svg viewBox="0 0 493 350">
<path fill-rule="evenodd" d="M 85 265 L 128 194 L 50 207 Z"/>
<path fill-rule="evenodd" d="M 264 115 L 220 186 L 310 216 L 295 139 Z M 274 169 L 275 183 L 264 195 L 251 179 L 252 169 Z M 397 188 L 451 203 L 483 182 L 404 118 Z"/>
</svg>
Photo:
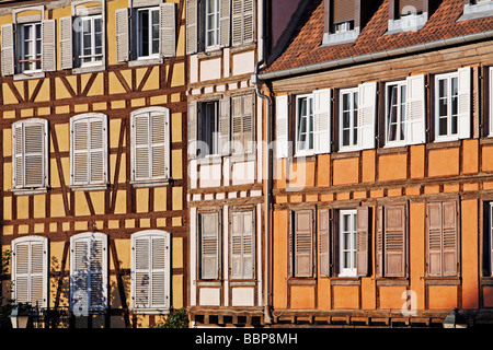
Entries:
<svg viewBox="0 0 493 350">
<path fill-rule="evenodd" d="M 255 215 L 253 210 L 231 212 L 231 279 L 255 278 Z"/>
</svg>

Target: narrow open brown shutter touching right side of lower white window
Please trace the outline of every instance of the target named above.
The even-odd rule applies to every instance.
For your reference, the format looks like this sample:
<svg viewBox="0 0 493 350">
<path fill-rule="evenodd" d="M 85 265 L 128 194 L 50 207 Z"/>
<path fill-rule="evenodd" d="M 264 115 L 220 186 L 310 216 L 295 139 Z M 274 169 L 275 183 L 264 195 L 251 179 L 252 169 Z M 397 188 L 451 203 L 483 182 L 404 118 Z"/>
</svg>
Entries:
<svg viewBox="0 0 493 350">
<path fill-rule="evenodd" d="M 369 208 L 360 207 L 356 211 L 356 270 L 357 276 L 368 276 L 370 218 Z"/>
</svg>

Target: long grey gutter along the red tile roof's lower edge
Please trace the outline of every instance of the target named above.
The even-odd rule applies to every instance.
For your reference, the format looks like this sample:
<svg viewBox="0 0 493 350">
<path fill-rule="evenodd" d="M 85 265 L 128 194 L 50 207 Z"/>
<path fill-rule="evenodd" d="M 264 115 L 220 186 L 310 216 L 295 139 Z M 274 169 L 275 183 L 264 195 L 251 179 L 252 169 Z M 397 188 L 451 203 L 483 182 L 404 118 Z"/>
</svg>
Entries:
<svg viewBox="0 0 493 350">
<path fill-rule="evenodd" d="M 392 58 L 401 55 L 410 55 L 410 54 L 417 54 L 431 49 L 440 49 L 448 46 L 454 45 L 460 45 L 460 44 L 468 44 L 477 40 L 483 40 L 483 39 L 490 39 L 493 38 L 493 31 L 486 31 L 481 33 L 474 33 L 474 34 L 467 34 L 461 36 L 455 36 L 451 38 L 446 39 L 439 39 L 431 43 L 424 43 L 413 46 L 406 46 L 406 47 L 399 47 L 393 48 L 385 51 L 378 51 L 378 52 L 371 52 L 371 54 L 365 54 L 354 57 L 347 57 L 347 58 L 341 58 L 332 61 L 326 62 L 320 62 L 320 63 L 313 63 L 313 65 L 307 65 L 285 70 L 278 70 L 273 72 L 266 72 L 266 73 L 260 73 L 257 74 L 257 78 L 260 80 L 275 80 L 280 78 L 288 78 L 294 77 L 298 74 L 303 73 L 312 73 L 316 71 L 321 70 L 328 70 L 333 68 L 341 68 L 344 66 L 349 65 L 358 65 L 364 63 L 368 61 L 372 61 L 376 59 L 385 59 L 385 58 Z"/>
</svg>

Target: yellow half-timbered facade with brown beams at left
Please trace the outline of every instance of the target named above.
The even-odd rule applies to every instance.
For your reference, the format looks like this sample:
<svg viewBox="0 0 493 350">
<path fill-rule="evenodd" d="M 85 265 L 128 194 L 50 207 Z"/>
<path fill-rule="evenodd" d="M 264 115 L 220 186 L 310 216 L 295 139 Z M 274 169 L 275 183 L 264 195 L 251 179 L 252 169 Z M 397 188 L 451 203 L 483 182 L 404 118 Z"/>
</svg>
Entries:
<svg viewBox="0 0 493 350">
<path fill-rule="evenodd" d="M 45 327 L 186 306 L 185 1 L 4 1 L 2 293 Z"/>
</svg>

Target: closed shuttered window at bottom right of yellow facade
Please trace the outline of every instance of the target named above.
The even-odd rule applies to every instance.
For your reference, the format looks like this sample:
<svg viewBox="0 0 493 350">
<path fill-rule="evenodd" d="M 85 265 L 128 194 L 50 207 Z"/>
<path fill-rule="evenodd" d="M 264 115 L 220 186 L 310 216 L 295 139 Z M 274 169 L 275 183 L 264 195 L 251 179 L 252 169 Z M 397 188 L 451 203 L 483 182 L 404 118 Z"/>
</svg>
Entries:
<svg viewBox="0 0 493 350">
<path fill-rule="evenodd" d="M 171 305 L 170 233 L 142 231 L 131 235 L 131 308 L 168 312 Z"/>
</svg>

